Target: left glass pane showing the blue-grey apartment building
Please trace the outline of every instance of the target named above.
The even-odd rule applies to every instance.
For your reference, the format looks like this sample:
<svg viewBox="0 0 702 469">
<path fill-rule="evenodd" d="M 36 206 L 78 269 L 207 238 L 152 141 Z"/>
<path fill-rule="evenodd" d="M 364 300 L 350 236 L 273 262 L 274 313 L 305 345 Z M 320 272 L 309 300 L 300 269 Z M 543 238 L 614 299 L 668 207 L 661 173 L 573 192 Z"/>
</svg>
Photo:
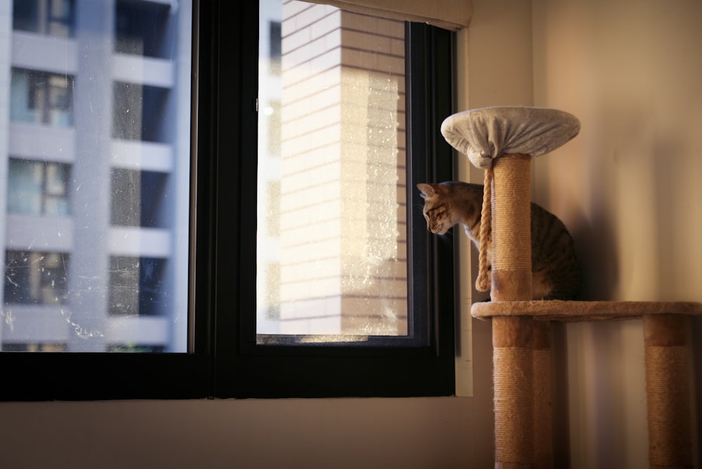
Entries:
<svg viewBox="0 0 702 469">
<path fill-rule="evenodd" d="M 186 352 L 192 2 L 8 11 L 1 350 Z"/>
</svg>

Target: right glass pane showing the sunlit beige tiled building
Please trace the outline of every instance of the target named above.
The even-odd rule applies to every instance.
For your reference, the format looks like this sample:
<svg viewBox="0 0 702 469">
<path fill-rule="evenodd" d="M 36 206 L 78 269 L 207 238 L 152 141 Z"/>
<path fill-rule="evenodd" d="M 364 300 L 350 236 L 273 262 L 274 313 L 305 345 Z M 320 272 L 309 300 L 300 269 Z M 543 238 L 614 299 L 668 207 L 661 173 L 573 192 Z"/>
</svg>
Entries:
<svg viewBox="0 0 702 469">
<path fill-rule="evenodd" d="M 404 28 L 330 6 L 260 1 L 259 342 L 411 330 Z"/>
</svg>

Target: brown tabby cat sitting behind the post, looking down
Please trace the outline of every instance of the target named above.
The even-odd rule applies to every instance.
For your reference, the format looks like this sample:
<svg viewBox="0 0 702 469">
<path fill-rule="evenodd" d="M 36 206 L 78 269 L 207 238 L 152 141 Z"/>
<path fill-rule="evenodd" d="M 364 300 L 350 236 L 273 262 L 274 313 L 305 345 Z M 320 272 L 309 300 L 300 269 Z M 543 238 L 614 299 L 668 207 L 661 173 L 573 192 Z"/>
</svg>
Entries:
<svg viewBox="0 0 702 469">
<path fill-rule="evenodd" d="M 447 181 L 418 184 L 424 199 L 424 218 L 432 233 L 445 234 L 461 223 L 480 249 L 480 216 L 483 186 Z M 488 246 L 488 260 L 491 246 Z M 541 206 L 531 204 L 531 270 L 534 300 L 571 300 L 580 285 L 580 267 L 573 239 L 561 220 Z"/>
</svg>

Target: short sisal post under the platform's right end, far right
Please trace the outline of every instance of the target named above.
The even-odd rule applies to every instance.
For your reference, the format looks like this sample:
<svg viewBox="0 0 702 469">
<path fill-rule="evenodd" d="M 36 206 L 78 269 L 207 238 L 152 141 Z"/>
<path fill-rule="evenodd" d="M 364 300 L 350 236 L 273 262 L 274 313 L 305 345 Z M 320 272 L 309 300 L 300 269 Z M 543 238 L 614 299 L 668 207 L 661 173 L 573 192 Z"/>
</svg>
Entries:
<svg viewBox="0 0 702 469">
<path fill-rule="evenodd" d="M 687 324 L 684 315 L 644 315 L 651 468 L 692 468 Z"/>
</svg>

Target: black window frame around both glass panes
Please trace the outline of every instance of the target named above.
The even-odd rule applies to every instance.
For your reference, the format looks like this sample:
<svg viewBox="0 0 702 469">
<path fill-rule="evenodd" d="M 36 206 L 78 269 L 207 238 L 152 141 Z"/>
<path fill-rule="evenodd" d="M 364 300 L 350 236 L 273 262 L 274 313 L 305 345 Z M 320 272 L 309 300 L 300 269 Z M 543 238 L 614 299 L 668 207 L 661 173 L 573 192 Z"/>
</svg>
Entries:
<svg viewBox="0 0 702 469">
<path fill-rule="evenodd" d="M 195 0 L 194 237 L 188 353 L 1 352 L 0 400 L 409 397 L 454 394 L 456 246 L 431 235 L 415 182 L 453 178 L 439 127 L 453 111 L 454 35 L 409 24 L 407 206 L 424 347 L 255 344 L 258 2 Z M 411 84 L 411 86 L 409 86 Z M 410 221 L 411 220 L 411 221 Z M 416 304 L 415 304 L 416 306 Z M 6 319 L 0 317 L 0 319 Z"/>
</svg>

